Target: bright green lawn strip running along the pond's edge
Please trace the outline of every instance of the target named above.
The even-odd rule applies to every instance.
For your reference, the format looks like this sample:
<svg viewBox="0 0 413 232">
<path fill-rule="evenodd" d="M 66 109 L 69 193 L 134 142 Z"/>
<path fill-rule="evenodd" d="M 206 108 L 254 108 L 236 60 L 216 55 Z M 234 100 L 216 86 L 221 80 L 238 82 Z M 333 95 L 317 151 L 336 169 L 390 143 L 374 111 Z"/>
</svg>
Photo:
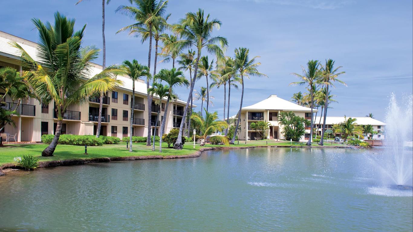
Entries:
<svg viewBox="0 0 413 232">
<path fill-rule="evenodd" d="M 290 146 L 290 142 L 275 142 L 271 141 L 235 141 L 231 147 L 246 147 L 246 146 Z M 304 142 L 293 142 L 293 146 L 305 147 Z M 314 147 L 319 147 L 318 144 L 313 143 Z M 205 147 L 223 147 L 225 145 L 212 145 L 206 144 Z M 326 144 L 328 146 L 343 146 L 342 144 Z M 162 143 L 162 153 L 159 153 L 159 142 L 155 143 L 155 151 L 152 151 L 152 146 L 146 146 L 145 143 L 133 143 L 133 152 L 129 152 L 126 149 L 126 143 L 121 144 L 103 145 L 100 147 L 88 147 L 88 154 L 85 155 L 84 146 L 74 145 L 57 145 L 55 153 L 50 157 L 41 156 L 43 149 L 47 147 L 47 144 L 7 144 L 0 148 L 0 165 L 5 163 L 15 163 L 14 157 L 23 156 L 24 154 L 32 154 L 38 156 L 40 161 L 52 161 L 52 160 L 65 160 L 65 159 L 88 159 L 88 158 L 100 158 L 100 157 L 124 157 L 124 156 L 168 156 L 168 155 L 188 155 L 193 154 L 202 147 L 199 144 L 195 144 L 193 148 L 192 143 L 185 143 L 184 149 L 176 150 L 168 148 L 166 143 Z"/>
</svg>

